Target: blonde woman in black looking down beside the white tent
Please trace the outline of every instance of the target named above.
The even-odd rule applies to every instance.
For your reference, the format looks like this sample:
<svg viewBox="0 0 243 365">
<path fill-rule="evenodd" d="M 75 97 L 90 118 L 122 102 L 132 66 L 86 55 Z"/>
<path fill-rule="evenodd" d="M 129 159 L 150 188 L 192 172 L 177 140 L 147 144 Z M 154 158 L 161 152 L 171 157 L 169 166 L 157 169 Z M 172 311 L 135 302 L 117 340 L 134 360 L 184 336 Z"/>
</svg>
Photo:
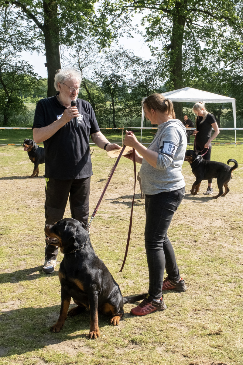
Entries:
<svg viewBox="0 0 243 365">
<path fill-rule="evenodd" d="M 207 153 L 205 153 L 205 150 L 203 151 L 205 153 L 203 160 L 210 160 L 212 150 L 211 142 L 219 134 L 219 127 L 214 116 L 206 110 L 203 103 L 194 104 L 192 110 L 196 114 L 196 130 L 193 132 L 195 134 L 194 151 L 203 151 L 208 147 Z M 211 136 L 212 128 L 214 133 Z M 212 181 L 212 179 L 208 180 L 206 194 L 213 193 Z"/>
</svg>

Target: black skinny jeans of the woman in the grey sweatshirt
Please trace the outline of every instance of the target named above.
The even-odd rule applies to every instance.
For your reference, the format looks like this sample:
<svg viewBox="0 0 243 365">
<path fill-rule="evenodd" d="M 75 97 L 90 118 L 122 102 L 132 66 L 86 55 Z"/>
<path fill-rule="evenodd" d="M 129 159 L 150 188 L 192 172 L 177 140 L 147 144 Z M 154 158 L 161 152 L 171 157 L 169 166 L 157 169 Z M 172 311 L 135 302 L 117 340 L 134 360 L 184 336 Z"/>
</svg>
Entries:
<svg viewBox="0 0 243 365">
<path fill-rule="evenodd" d="M 164 270 L 170 279 L 180 280 L 175 252 L 167 231 L 173 215 L 185 195 L 185 188 L 155 195 L 145 195 L 145 248 L 149 268 L 149 294 L 162 295 Z"/>
</svg>

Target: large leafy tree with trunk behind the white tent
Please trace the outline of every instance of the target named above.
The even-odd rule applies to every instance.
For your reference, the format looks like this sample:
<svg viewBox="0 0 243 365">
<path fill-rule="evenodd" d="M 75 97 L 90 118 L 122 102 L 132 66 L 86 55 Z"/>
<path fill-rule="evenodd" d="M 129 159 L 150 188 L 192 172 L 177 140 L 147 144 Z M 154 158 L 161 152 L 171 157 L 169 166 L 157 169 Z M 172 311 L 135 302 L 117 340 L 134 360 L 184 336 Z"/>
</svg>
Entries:
<svg viewBox="0 0 243 365">
<path fill-rule="evenodd" d="M 129 11 L 141 14 L 142 34 L 158 59 L 167 90 L 190 84 L 200 89 L 204 83 L 200 79 L 208 73 L 215 82 L 204 85 L 203 90 L 220 89 L 216 93 L 228 96 L 230 80 L 225 80 L 227 88 L 223 88 L 217 73 L 231 74 L 238 69 L 236 74 L 242 79 L 242 0 L 120 0 L 115 4 L 126 22 Z M 221 106 L 215 110 L 219 121 L 221 110 Z M 182 105 L 175 103 L 175 111 L 181 119 Z"/>
</svg>

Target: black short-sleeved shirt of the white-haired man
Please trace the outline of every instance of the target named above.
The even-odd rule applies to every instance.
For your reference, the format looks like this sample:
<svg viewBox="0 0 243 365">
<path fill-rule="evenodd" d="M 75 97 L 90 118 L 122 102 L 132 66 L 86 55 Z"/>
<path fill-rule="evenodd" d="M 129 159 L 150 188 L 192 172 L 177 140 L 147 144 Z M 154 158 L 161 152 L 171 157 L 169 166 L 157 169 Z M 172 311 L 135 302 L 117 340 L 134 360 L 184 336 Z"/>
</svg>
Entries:
<svg viewBox="0 0 243 365">
<path fill-rule="evenodd" d="M 38 101 L 32 129 L 46 127 L 61 118 L 66 107 L 59 103 L 56 95 Z M 71 119 L 44 141 L 47 178 L 66 180 L 93 175 L 89 136 L 100 129 L 90 103 L 77 99 L 77 108 L 78 128 Z"/>
</svg>

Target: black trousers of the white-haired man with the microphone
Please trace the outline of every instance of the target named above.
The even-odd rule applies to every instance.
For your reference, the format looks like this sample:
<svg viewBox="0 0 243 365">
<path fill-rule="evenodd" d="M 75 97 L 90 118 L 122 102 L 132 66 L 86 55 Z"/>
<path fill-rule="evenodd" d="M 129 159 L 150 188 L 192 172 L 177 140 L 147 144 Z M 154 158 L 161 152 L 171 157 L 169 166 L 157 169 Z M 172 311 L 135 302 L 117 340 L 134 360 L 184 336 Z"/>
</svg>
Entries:
<svg viewBox="0 0 243 365">
<path fill-rule="evenodd" d="M 68 196 L 71 218 L 87 224 L 89 219 L 90 177 L 74 180 L 50 178 L 47 179 L 45 191 L 46 224 L 54 224 L 63 218 Z M 45 260 L 55 260 L 57 254 L 57 246 L 46 245 Z"/>
</svg>

